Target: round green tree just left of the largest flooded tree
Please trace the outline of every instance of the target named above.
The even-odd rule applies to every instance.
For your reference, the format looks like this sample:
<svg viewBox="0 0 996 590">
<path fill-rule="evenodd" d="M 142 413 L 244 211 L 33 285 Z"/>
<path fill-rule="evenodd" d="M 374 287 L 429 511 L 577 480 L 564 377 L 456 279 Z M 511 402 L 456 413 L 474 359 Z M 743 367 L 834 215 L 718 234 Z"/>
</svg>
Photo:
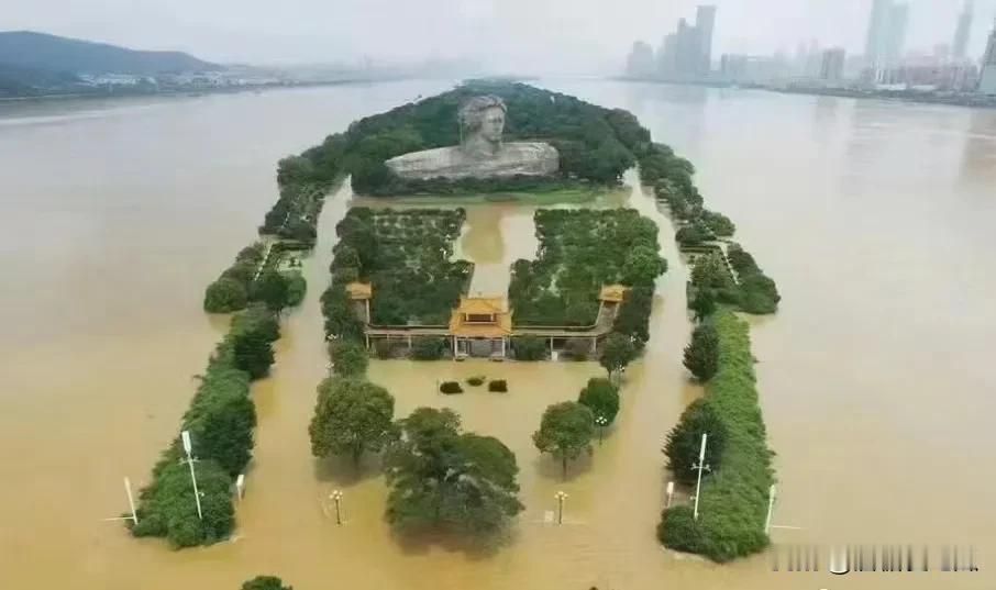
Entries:
<svg viewBox="0 0 996 590">
<path fill-rule="evenodd" d="M 386 389 L 358 379 L 325 379 L 308 433 L 316 457 L 350 455 L 355 465 L 366 452 L 383 449 L 395 436 L 395 399 Z"/>
</svg>

